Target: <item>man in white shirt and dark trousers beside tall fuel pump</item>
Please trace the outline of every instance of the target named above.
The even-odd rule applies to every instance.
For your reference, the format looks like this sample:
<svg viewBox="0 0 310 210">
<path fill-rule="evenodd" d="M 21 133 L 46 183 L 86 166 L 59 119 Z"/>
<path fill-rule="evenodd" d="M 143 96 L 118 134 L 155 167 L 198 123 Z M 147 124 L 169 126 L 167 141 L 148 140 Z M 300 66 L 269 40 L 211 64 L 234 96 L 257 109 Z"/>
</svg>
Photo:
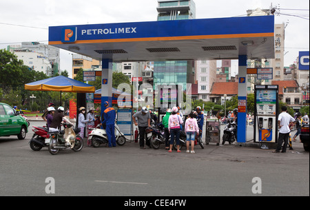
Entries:
<svg viewBox="0 0 310 210">
<path fill-rule="evenodd" d="M 280 152 L 280 149 L 282 147 L 282 143 L 284 141 L 284 145 L 282 147 L 282 153 L 287 152 L 287 143 L 289 141 L 289 133 L 291 132 L 291 129 L 289 129 L 289 123 L 294 122 L 295 119 L 287 113 L 287 107 L 282 107 L 282 112 L 279 114 L 278 117 L 278 127 L 279 127 L 279 138 L 278 138 L 278 147 L 276 151 L 273 151 L 273 153 Z"/>
</svg>

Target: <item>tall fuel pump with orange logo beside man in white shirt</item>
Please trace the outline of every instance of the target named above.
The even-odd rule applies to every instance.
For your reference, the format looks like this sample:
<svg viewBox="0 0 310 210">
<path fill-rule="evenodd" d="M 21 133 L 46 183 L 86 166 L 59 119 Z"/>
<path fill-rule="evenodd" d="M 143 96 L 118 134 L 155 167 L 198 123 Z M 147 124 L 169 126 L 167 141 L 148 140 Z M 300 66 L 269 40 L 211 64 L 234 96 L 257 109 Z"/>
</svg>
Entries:
<svg viewBox="0 0 310 210">
<path fill-rule="evenodd" d="M 278 143 L 278 85 L 255 86 L 254 142 Z"/>
</svg>

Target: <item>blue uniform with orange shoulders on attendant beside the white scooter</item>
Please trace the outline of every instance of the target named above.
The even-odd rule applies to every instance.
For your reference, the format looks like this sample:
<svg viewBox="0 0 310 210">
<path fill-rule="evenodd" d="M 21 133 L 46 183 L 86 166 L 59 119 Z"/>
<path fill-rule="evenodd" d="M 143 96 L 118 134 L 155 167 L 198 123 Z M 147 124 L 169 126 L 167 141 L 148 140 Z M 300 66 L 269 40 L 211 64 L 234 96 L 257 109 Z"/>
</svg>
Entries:
<svg viewBox="0 0 310 210">
<path fill-rule="evenodd" d="M 109 147 L 116 147 L 116 138 L 115 138 L 115 132 L 114 132 L 114 124 L 115 124 L 115 118 L 116 118 L 116 112 L 115 109 L 112 107 L 109 107 L 105 109 L 103 112 L 103 117 L 105 118 L 101 123 L 105 123 L 107 132 L 107 140 L 109 141 Z"/>
</svg>

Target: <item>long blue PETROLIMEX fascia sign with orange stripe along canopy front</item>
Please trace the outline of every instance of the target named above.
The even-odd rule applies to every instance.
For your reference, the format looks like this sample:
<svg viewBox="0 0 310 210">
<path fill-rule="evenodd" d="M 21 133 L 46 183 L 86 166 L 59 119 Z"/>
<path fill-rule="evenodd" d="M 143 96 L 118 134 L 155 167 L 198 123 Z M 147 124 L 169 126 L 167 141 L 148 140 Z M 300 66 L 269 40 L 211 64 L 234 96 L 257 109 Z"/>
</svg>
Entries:
<svg viewBox="0 0 310 210">
<path fill-rule="evenodd" d="M 165 28 L 165 30 L 158 30 Z M 199 30 L 196 30 L 199 28 Z M 111 42 L 114 39 L 125 41 L 149 41 L 158 37 L 218 36 L 234 38 L 231 34 L 261 34 L 271 36 L 274 32 L 274 17 L 234 17 L 222 19 L 194 19 L 179 21 L 152 21 L 137 23 L 108 23 L 94 25 L 52 26 L 49 29 L 50 44 Z M 271 34 L 269 34 L 271 33 Z M 197 37 L 198 36 L 198 37 Z M 138 40 L 137 40 L 138 39 Z M 59 42 L 61 41 L 61 42 Z"/>
</svg>

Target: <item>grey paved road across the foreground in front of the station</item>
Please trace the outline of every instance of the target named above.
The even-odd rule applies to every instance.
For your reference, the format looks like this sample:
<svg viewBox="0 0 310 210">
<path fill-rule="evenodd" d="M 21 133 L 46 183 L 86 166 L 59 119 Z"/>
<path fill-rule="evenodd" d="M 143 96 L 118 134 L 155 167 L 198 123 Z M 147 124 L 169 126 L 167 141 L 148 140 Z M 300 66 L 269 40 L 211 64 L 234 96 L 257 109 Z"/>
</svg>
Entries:
<svg viewBox="0 0 310 210">
<path fill-rule="evenodd" d="M 309 196 L 309 153 L 301 143 L 287 154 L 214 144 L 169 154 L 163 145 L 143 150 L 126 143 L 52 156 L 46 148 L 32 151 L 31 136 L 0 138 L 0 196 L 257 196 L 255 177 L 262 196 Z M 49 177 L 54 194 L 45 192 Z"/>
</svg>

